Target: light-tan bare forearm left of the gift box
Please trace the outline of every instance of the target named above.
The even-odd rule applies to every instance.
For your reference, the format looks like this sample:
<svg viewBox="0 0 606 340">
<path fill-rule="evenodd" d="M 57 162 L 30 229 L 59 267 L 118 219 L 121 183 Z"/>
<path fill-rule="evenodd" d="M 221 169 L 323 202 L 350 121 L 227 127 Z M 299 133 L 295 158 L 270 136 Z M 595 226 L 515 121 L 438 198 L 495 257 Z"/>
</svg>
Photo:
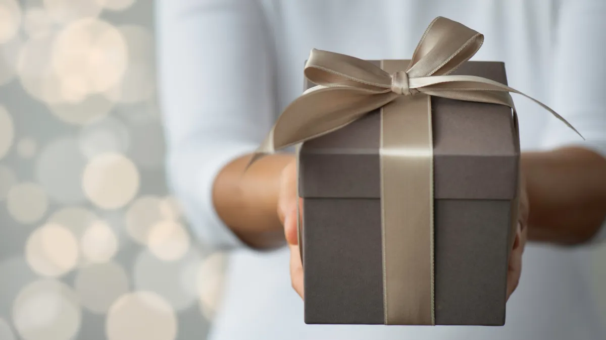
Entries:
<svg viewBox="0 0 606 340">
<path fill-rule="evenodd" d="M 293 155 L 268 155 L 245 166 L 250 155 L 225 166 L 215 179 L 213 203 L 219 217 L 251 247 L 265 249 L 284 243 L 278 217 L 278 194 L 282 169 Z"/>
</svg>

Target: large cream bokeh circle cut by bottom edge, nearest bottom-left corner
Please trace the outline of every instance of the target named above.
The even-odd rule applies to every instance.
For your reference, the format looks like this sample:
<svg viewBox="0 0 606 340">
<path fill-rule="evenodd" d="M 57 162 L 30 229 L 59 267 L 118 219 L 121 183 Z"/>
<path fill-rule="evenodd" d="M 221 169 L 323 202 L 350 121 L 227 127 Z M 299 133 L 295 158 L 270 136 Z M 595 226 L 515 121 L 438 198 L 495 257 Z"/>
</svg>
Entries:
<svg viewBox="0 0 606 340">
<path fill-rule="evenodd" d="M 13 303 L 13 323 L 25 340 L 68 340 L 80 329 L 82 312 L 76 294 L 54 280 L 23 287 Z"/>
</svg>

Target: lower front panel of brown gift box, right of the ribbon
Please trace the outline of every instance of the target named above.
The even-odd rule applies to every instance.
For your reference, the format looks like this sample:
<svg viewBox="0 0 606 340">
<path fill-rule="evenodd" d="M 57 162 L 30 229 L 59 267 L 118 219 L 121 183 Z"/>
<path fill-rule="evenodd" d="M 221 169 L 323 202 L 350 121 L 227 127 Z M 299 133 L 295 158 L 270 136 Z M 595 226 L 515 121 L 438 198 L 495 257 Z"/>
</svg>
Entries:
<svg viewBox="0 0 606 340">
<path fill-rule="evenodd" d="M 437 324 L 504 324 L 510 221 L 508 200 L 436 200 Z"/>
</svg>

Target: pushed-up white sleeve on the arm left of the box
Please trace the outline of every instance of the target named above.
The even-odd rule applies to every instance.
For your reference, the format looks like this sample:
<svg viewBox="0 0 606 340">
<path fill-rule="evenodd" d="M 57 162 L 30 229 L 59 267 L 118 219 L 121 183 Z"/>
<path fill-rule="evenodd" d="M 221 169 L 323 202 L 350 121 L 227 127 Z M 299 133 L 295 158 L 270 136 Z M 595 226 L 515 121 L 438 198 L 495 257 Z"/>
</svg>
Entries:
<svg viewBox="0 0 606 340">
<path fill-rule="evenodd" d="M 216 214 L 218 172 L 273 124 L 273 50 L 258 0 L 159 0 L 159 91 L 167 176 L 200 241 L 242 246 Z"/>
</svg>

